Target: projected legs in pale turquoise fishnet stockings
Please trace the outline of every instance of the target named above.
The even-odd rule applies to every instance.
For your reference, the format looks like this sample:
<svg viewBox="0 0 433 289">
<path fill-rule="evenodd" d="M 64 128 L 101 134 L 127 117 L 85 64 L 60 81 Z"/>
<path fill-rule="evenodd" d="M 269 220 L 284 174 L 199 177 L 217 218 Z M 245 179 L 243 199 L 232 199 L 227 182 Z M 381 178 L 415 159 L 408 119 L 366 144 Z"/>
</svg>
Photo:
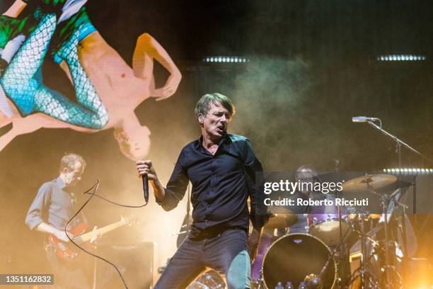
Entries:
<svg viewBox="0 0 433 289">
<path fill-rule="evenodd" d="M 16 104 L 22 115 L 40 111 L 67 123 L 86 128 L 103 128 L 108 122 L 108 112 L 95 89 L 83 72 L 76 55 L 76 35 L 71 37 L 61 54 L 65 56 L 80 106 L 59 93 L 53 93 L 35 78 L 47 54 L 48 45 L 56 28 L 57 18 L 52 14 L 42 16 L 35 30 L 25 40 L 11 63 L 8 65 L 1 84 L 9 98 Z M 74 50 L 75 47 L 75 50 Z M 75 60 L 74 60 L 75 57 Z"/>
</svg>

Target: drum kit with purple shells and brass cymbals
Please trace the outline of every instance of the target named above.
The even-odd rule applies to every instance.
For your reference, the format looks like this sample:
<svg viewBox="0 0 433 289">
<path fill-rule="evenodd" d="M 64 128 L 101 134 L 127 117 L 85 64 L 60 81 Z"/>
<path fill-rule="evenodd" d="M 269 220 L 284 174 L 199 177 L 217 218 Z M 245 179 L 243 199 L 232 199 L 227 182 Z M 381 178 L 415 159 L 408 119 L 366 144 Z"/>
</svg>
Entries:
<svg viewBox="0 0 433 289">
<path fill-rule="evenodd" d="M 370 174 L 342 185 L 345 196 L 368 193 L 378 198 L 381 214 L 337 205 L 315 206 L 304 215 L 290 210 L 271 214 L 252 264 L 252 288 L 402 288 L 396 252 L 405 242 L 398 244 L 390 222 L 404 217 L 406 206 L 383 191 L 396 182 L 396 176 Z M 306 232 L 289 229 L 275 237 L 275 229 L 284 232 L 298 217 L 306 217 Z M 396 227 L 404 231 L 405 225 Z"/>
</svg>

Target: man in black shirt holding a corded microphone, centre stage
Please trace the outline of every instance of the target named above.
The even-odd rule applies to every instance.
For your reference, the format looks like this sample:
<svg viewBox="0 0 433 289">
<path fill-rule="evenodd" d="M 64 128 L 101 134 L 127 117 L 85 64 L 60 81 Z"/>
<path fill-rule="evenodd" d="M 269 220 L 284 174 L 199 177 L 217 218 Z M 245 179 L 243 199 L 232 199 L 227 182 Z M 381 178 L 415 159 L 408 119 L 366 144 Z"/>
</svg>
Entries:
<svg viewBox="0 0 433 289">
<path fill-rule="evenodd" d="M 250 288 L 250 257 L 266 220 L 265 194 L 256 186 L 263 172 L 248 139 L 227 133 L 234 113 L 233 103 L 222 94 L 200 98 L 195 115 L 202 136 L 182 149 L 166 188 L 151 160 L 137 162 L 164 210 L 173 210 L 192 183 L 191 231 L 155 289 L 184 289 L 207 267 L 224 273 L 229 289 Z M 249 239 L 248 217 L 253 223 Z"/>
</svg>

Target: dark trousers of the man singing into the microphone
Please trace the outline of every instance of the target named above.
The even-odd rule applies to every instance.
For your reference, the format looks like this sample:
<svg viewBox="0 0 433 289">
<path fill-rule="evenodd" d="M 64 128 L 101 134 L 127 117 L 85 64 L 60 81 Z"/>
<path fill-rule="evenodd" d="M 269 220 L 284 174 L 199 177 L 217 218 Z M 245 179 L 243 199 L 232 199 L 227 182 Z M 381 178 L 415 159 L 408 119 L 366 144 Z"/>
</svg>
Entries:
<svg viewBox="0 0 433 289">
<path fill-rule="evenodd" d="M 205 268 L 223 273 L 229 289 L 250 288 L 247 244 L 248 234 L 242 229 L 228 229 L 200 241 L 187 237 L 154 289 L 185 289 Z"/>
</svg>

